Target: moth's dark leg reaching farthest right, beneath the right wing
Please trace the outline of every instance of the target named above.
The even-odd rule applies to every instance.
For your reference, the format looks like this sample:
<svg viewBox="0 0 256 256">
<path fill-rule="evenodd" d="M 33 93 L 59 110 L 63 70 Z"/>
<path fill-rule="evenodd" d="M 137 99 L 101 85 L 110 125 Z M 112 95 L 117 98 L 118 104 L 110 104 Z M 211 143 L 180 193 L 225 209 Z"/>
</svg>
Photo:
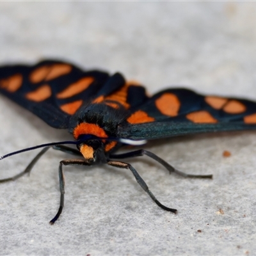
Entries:
<svg viewBox="0 0 256 256">
<path fill-rule="evenodd" d="M 124 158 L 129 158 L 129 157 L 136 157 L 136 156 L 148 156 L 151 157 L 152 159 L 156 160 L 159 164 L 162 164 L 170 173 L 174 172 L 182 177 L 188 177 L 188 178 L 203 178 L 203 179 L 212 179 L 212 175 L 193 175 L 193 174 L 188 174 L 184 172 L 180 172 L 179 170 L 175 169 L 172 165 L 168 164 L 166 161 L 161 159 L 160 157 L 156 156 L 154 153 L 145 150 L 145 149 L 140 149 L 132 152 L 127 152 L 124 154 L 118 154 L 118 155 L 110 155 L 109 157 L 115 158 L 115 159 L 124 159 Z"/>
</svg>

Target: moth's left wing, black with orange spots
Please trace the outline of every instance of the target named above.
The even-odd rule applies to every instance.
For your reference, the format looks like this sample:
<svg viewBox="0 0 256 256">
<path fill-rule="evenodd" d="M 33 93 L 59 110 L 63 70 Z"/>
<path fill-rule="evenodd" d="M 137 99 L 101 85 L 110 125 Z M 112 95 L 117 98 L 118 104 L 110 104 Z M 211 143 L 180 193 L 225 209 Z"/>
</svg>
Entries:
<svg viewBox="0 0 256 256">
<path fill-rule="evenodd" d="M 98 70 L 84 72 L 63 61 L 0 67 L 0 92 L 60 129 L 68 128 L 70 116 L 84 102 L 111 93 L 124 83 L 118 73 L 110 77 Z"/>
</svg>

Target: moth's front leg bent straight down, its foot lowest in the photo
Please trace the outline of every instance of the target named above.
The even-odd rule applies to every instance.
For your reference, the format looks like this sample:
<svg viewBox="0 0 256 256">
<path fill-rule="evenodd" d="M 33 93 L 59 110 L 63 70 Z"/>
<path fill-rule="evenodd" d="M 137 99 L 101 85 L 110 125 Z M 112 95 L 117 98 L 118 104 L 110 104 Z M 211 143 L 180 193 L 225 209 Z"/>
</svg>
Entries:
<svg viewBox="0 0 256 256">
<path fill-rule="evenodd" d="M 60 161 L 59 165 L 59 179 L 60 179 L 60 207 L 56 214 L 56 216 L 50 221 L 50 224 L 53 225 L 56 220 L 60 217 L 62 209 L 64 207 L 64 194 L 65 194 L 65 177 L 63 174 L 63 165 L 86 165 L 90 164 L 86 163 L 83 159 L 67 159 Z"/>
</svg>

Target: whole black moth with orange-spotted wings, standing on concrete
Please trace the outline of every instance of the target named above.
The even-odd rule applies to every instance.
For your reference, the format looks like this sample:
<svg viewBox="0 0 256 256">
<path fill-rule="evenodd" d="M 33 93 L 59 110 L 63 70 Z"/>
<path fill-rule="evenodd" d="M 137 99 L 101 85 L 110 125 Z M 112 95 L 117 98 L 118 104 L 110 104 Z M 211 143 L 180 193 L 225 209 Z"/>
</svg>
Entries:
<svg viewBox="0 0 256 256">
<path fill-rule="evenodd" d="M 143 145 L 147 140 L 202 132 L 256 129 L 256 102 L 245 99 L 200 95 L 185 88 L 170 88 L 149 97 L 145 88 L 125 81 L 120 73 L 109 75 L 100 70 L 82 70 L 64 61 L 45 60 L 36 65 L 0 67 L 0 92 L 28 109 L 56 129 L 67 129 L 72 141 L 60 141 L 25 148 L 0 157 L 42 148 L 27 168 L 8 179 L 29 173 L 49 148 L 61 150 L 74 159 L 60 161 L 60 207 L 50 221 L 58 220 L 64 206 L 65 182 L 63 166 L 108 164 L 131 170 L 138 184 L 162 209 L 176 209 L 161 204 L 140 174 L 126 161 L 130 157 L 148 156 L 170 173 L 191 175 L 173 168 L 148 150 L 131 150 L 118 154 L 124 145 Z M 76 145 L 76 148 L 67 147 Z"/>
</svg>

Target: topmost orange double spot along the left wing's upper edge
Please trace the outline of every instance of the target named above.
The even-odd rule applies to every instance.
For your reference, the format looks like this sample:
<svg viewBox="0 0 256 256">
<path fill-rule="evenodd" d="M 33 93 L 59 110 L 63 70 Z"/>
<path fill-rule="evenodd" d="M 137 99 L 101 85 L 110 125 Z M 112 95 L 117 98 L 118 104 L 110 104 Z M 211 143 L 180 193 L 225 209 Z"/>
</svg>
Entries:
<svg viewBox="0 0 256 256">
<path fill-rule="evenodd" d="M 40 83 L 68 74 L 71 70 L 72 67 L 68 64 L 45 65 L 33 70 L 29 79 L 31 83 Z"/>
</svg>

